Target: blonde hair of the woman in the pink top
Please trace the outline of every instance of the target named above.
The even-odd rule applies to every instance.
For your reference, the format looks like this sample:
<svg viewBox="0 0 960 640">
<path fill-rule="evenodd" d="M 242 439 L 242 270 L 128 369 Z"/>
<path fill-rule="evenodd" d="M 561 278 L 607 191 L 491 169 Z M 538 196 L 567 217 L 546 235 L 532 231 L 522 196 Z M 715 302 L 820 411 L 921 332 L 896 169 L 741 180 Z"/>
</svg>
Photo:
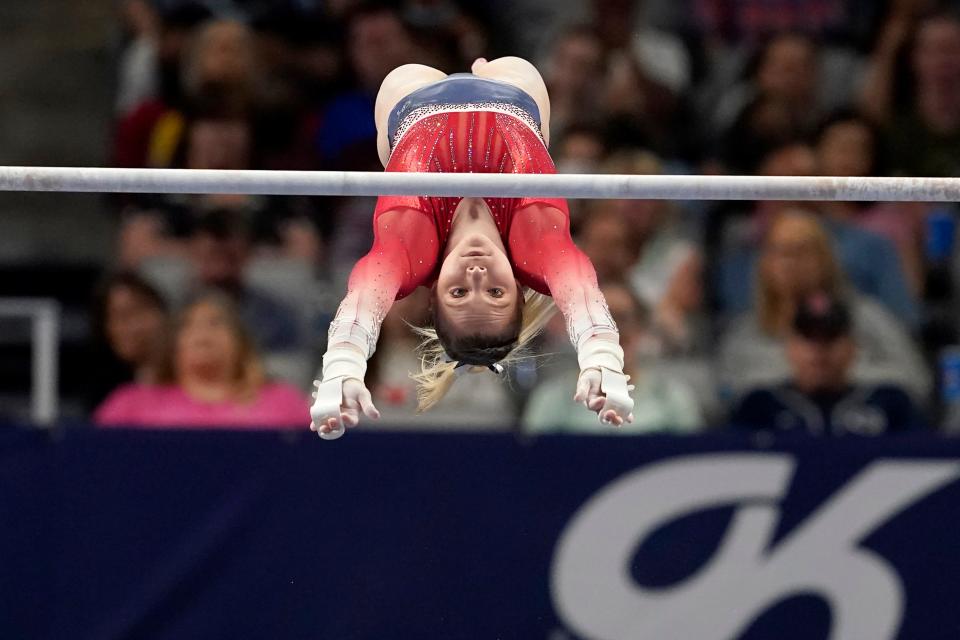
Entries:
<svg viewBox="0 0 960 640">
<path fill-rule="evenodd" d="M 257 351 L 253 336 L 247 330 L 236 304 L 220 292 L 206 292 L 193 298 L 177 314 L 171 331 L 171 339 L 167 348 L 166 357 L 160 367 L 158 382 L 179 384 L 176 364 L 177 337 L 183 330 L 187 317 L 199 306 L 210 305 L 220 311 L 226 318 L 230 333 L 237 344 L 237 362 L 233 370 L 232 382 L 236 390 L 235 399 L 241 402 L 253 401 L 257 393 L 266 383 L 266 372 L 263 361 Z"/>
</svg>

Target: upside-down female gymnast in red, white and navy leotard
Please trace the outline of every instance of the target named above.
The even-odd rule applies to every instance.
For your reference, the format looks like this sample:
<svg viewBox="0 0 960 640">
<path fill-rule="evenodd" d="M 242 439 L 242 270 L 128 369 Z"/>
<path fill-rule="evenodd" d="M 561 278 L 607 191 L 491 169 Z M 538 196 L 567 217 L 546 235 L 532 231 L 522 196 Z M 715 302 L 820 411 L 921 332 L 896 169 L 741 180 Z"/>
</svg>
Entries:
<svg viewBox="0 0 960 640">
<path fill-rule="evenodd" d="M 520 58 L 478 59 L 472 74 L 404 65 L 383 81 L 375 116 L 387 171 L 556 173 L 550 102 Z M 381 196 L 374 243 L 353 268 L 330 325 L 310 428 L 324 439 L 379 417 L 364 385 L 367 359 L 394 300 L 431 290 L 420 329 L 420 410 L 470 367 L 502 373 L 543 328 L 553 302 L 577 349 L 574 394 L 602 423 L 633 419 L 616 324 L 589 259 L 570 238 L 563 199 Z"/>
</svg>

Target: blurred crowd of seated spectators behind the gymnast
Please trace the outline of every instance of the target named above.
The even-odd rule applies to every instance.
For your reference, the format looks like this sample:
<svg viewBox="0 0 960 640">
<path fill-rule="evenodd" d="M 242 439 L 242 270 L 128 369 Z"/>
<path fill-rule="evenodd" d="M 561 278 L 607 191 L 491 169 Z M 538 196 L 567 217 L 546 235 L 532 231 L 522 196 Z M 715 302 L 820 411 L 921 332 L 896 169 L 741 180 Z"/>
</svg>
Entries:
<svg viewBox="0 0 960 640">
<path fill-rule="evenodd" d="M 960 3 L 931 0 L 125 0 L 112 162 L 381 170 L 393 68 L 530 58 L 561 173 L 960 175 Z M 571 201 L 636 384 L 618 433 L 960 429 L 953 205 Z M 86 403 L 109 424 L 306 428 L 305 392 L 368 198 L 116 197 Z M 391 427 L 599 433 L 544 356 L 417 416 L 406 323 L 368 386 Z M 956 379 L 954 379 L 956 378 Z M 367 424 L 368 428 L 379 425 Z"/>
</svg>

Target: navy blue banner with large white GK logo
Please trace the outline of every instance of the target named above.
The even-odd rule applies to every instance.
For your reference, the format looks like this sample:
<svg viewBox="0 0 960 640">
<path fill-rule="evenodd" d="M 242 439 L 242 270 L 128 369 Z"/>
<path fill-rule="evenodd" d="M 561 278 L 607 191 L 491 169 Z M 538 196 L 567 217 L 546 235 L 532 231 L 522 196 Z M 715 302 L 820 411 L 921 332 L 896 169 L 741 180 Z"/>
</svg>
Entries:
<svg viewBox="0 0 960 640">
<path fill-rule="evenodd" d="M 960 635 L 960 442 L 0 429 L 0 637 Z"/>
</svg>

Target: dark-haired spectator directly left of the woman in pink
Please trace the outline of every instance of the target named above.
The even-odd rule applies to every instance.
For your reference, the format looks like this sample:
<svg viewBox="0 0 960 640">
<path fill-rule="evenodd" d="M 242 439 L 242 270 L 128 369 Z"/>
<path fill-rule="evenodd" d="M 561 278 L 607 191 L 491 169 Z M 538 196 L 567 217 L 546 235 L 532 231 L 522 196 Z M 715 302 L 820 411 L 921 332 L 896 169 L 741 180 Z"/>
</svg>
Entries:
<svg viewBox="0 0 960 640">
<path fill-rule="evenodd" d="M 93 366 L 86 380 L 91 410 L 123 383 L 156 382 L 167 304 L 153 286 L 131 272 L 112 275 L 94 298 L 93 326 Z"/>
</svg>

